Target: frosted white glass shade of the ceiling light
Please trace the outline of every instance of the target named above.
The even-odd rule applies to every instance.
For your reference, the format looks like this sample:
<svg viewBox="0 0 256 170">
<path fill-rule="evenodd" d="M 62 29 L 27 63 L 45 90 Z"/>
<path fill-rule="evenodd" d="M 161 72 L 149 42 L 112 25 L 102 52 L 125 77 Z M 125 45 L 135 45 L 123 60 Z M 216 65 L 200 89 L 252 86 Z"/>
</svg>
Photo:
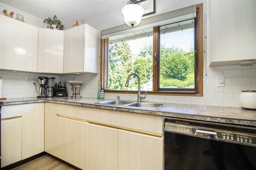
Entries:
<svg viewBox="0 0 256 170">
<path fill-rule="evenodd" d="M 125 23 L 132 27 L 139 25 L 143 13 L 144 9 L 137 4 L 128 4 L 125 5 L 122 9 Z"/>
</svg>

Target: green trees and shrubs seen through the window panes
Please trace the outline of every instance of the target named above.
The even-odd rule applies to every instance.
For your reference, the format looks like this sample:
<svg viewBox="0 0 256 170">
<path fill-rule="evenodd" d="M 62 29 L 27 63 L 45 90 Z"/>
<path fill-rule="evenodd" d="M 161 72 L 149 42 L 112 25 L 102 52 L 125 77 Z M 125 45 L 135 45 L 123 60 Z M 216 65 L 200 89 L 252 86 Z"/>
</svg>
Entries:
<svg viewBox="0 0 256 170">
<path fill-rule="evenodd" d="M 160 45 L 160 88 L 194 88 L 194 51 Z M 145 44 L 137 56 L 133 56 L 127 42 L 109 45 L 109 89 L 125 90 L 126 78 L 132 72 L 139 75 L 141 84 L 152 81 L 152 44 Z M 130 83 L 137 88 L 137 79 Z"/>
</svg>

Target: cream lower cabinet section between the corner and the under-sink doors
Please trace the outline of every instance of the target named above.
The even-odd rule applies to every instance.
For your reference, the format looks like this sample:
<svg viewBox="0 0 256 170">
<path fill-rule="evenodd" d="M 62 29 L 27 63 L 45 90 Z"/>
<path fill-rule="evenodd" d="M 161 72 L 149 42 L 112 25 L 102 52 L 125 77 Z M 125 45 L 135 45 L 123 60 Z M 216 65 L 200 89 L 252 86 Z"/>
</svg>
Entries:
<svg viewBox="0 0 256 170">
<path fill-rule="evenodd" d="M 86 161 L 86 109 L 46 103 L 45 151 L 81 169 Z"/>
</svg>

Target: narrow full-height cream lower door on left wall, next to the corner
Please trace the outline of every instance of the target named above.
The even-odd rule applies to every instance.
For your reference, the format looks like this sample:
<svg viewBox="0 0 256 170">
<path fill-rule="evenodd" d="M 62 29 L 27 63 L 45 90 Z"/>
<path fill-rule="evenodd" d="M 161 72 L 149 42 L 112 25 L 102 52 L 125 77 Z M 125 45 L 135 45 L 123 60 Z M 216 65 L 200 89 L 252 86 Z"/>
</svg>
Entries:
<svg viewBox="0 0 256 170">
<path fill-rule="evenodd" d="M 44 152 L 44 103 L 23 105 L 22 159 Z"/>
</svg>

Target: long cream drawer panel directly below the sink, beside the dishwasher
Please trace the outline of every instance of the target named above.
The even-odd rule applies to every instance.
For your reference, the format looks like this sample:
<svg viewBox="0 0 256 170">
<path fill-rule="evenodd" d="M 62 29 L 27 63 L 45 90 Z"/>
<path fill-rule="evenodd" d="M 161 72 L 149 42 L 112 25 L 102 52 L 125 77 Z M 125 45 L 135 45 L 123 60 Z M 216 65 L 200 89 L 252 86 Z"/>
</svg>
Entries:
<svg viewBox="0 0 256 170">
<path fill-rule="evenodd" d="M 87 120 L 139 131 L 162 134 L 163 117 L 132 112 L 87 108 Z"/>
</svg>

